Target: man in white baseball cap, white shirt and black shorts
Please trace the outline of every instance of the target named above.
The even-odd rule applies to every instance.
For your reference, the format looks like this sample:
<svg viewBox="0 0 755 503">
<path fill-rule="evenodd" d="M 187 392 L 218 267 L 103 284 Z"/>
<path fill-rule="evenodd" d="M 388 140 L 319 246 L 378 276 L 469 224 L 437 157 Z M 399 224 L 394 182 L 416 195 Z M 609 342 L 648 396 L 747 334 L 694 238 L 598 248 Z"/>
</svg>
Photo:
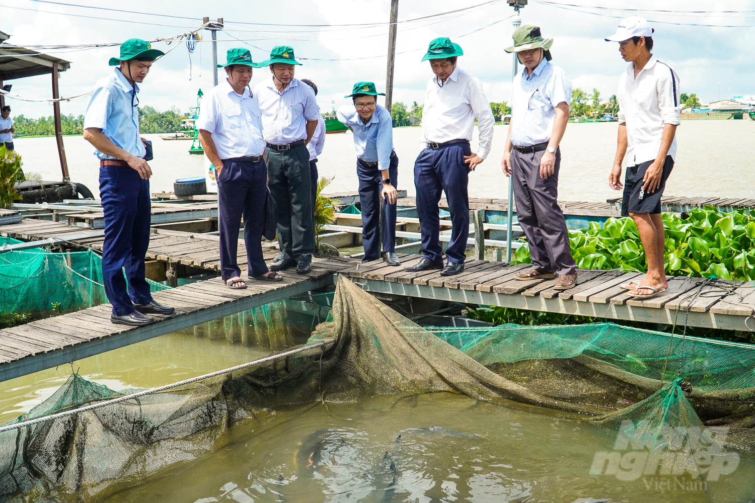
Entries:
<svg viewBox="0 0 755 503">
<path fill-rule="evenodd" d="M 630 296 L 646 299 L 668 288 L 664 271 L 665 235 L 661 195 L 676 155 L 676 126 L 680 124 L 679 76 L 650 52 L 653 29 L 642 17 L 627 17 L 615 35 L 621 57 L 630 65 L 619 77 L 618 140 L 609 186 L 620 190 L 621 164 L 627 176 L 621 215 L 631 216 L 639 231 L 648 262 L 642 281 L 621 285 Z"/>
</svg>

